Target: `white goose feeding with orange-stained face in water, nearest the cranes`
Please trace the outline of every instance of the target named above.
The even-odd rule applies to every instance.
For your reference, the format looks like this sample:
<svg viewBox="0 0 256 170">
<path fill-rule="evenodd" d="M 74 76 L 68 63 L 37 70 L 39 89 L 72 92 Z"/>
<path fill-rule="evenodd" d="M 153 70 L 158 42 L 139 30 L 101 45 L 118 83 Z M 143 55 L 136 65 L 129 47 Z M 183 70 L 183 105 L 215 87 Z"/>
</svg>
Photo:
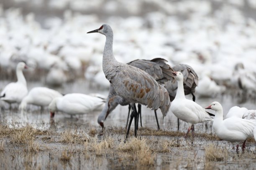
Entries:
<svg viewBox="0 0 256 170">
<path fill-rule="evenodd" d="M 80 93 L 70 93 L 63 97 L 56 97 L 49 104 L 51 117 L 54 117 L 56 111 L 65 112 L 69 115 L 86 114 L 102 107 L 105 100 L 90 95 Z"/>
</svg>

